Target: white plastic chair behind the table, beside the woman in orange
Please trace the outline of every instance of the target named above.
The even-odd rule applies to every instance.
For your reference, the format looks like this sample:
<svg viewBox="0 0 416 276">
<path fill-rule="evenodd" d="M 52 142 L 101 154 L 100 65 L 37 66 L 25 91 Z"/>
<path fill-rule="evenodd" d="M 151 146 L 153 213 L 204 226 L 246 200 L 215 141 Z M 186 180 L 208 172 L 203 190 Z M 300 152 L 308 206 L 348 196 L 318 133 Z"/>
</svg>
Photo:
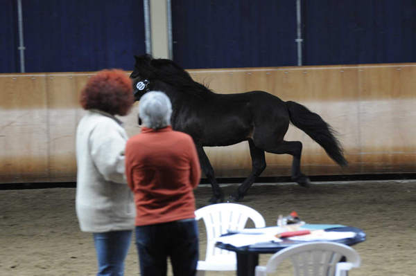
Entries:
<svg viewBox="0 0 416 276">
<path fill-rule="evenodd" d="M 197 275 L 205 275 L 206 270 L 236 270 L 236 253 L 215 247 L 215 239 L 228 230 L 242 230 L 251 219 L 255 228 L 266 226 L 263 216 L 256 210 L 236 203 L 207 205 L 195 211 L 196 219 L 203 219 L 207 230 L 207 252 L 205 261 L 198 261 Z"/>
</svg>

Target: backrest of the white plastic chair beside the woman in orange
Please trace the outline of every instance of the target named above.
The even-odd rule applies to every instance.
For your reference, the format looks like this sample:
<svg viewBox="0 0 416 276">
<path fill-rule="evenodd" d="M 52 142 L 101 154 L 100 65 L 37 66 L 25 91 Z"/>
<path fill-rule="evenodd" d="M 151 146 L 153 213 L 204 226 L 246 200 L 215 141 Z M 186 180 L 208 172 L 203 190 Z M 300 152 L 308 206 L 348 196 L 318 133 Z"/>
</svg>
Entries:
<svg viewBox="0 0 416 276">
<path fill-rule="evenodd" d="M 242 230 L 248 219 L 251 219 L 255 228 L 266 226 L 263 216 L 256 210 L 236 203 L 218 203 L 207 205 L 195 211 L 196 219 L 203 219 L 207 230 L 207 252 L 205 260 L 216 255 L 235 255 L 229 250 L 221 250 L 215 247 L 215 238 L 228 230 Z"/>
</svg>

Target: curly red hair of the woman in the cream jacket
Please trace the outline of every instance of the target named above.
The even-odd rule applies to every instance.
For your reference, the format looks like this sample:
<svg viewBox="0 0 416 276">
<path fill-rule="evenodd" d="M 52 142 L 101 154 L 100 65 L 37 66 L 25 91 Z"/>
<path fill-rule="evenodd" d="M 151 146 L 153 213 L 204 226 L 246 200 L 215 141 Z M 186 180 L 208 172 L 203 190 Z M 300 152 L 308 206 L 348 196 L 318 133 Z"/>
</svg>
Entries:
<svg viewBox="0 0 416 276">
<path fill-rule="evenodd" d="M 126 115 L 134 102 L 130 77 L 120 69 L 99 71 L 88 80 L 80 95 L 84 109 L 98 109 L 112 115 Z"/>
</svg>

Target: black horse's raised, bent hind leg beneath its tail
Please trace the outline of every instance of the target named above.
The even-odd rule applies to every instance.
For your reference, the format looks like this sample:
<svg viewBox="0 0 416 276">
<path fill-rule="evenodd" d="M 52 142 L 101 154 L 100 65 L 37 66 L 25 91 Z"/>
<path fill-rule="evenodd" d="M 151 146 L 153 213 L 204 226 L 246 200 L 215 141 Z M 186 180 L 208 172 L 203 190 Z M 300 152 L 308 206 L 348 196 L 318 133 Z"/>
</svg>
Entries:
<svg viewBox="0 0 416 276">
<path fill-rule="evenodd" d="M 273 154 L 291 154 L 292 161 L 292 179 L 297 184 L 309 187 L 311 181 L 307 176 L 300 172 L 300 156 L 302 154 L 302 142 L 300 141 L 282 141 L 279 145 L 273 148 L 267 148 L 266 151 Z"/>
</svg>

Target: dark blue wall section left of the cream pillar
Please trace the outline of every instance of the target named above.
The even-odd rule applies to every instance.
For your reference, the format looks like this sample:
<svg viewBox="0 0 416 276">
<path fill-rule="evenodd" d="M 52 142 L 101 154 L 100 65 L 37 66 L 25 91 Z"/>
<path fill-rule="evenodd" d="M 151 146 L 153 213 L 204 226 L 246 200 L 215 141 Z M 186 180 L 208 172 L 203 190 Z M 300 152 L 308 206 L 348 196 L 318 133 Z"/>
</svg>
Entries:
<svg viewBox="0 0 416 276">
<path fill-rule="evenodd" d="M 1 2 L 2 27 L 11 27 L 1 37 L 15 45 L 1 46 L 0 70 L 19 72 L 17 1 Z M 22 0 L 22 10 L 26 72 L 131 70 L 133 55 L 145 52 L 142 1 Z"/>
</svg>

